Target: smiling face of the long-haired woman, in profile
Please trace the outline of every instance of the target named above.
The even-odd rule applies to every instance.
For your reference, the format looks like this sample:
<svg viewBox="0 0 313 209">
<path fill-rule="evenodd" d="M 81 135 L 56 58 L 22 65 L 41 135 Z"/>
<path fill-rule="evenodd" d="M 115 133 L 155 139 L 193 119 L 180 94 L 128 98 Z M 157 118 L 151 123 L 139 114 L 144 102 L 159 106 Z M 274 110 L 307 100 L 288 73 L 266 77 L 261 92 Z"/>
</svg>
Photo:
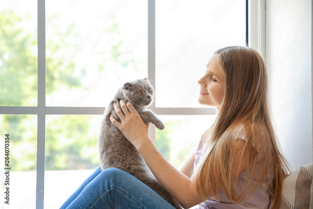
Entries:
<svg viewBox="0 0 313 209">
<path fill-rule="evenodd" d="M 214 106 L 218 110 L 221 106 L 225 91 L 225 73 L 218 65 L 217 55 L 213 55 L 207 64 L 207 71 L 199 79 L 199 104 Z"/>
</svg>

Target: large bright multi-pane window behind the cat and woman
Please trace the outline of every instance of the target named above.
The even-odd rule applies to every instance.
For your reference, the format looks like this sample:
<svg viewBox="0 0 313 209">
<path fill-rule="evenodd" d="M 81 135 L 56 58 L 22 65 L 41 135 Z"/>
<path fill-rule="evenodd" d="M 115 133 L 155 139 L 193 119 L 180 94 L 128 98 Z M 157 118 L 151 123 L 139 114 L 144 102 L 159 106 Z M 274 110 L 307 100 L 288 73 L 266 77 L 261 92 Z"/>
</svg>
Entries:
<svg viewBox="0 0 313 209">
<path fill-rule="evenodd" d="M 138 78 L 152 80 L 150 109 L 166 124 L 151 128 L 151 138 L 179 168 L 216 117 L 197 103 L 205 65 L 214 50 L 246 44 L 245 2 L 36 3 L 0 5 L 0 133 L 10 134 L 11 206 L 57 208 L 77 189 L 99 166 L 105 106 Z"/>
</svg>

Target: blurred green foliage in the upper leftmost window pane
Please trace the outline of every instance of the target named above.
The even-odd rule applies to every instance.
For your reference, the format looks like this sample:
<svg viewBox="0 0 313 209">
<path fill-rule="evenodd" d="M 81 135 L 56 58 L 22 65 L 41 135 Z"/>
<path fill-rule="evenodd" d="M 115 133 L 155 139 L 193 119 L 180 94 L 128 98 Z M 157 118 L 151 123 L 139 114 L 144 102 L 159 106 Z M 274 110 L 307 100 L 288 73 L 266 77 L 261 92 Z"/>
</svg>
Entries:
<svg viewBox="0 0 313 209">
<path fill-rule="evenodd" d="M 0 16 L 0 104 L 3 106 L 37 104 L 33 99 L 37 97 L 37 56 L 31 50 L 36 47 L 37 39 L 16 28 L 21 22 L 13 12 Z"/>
</svg>

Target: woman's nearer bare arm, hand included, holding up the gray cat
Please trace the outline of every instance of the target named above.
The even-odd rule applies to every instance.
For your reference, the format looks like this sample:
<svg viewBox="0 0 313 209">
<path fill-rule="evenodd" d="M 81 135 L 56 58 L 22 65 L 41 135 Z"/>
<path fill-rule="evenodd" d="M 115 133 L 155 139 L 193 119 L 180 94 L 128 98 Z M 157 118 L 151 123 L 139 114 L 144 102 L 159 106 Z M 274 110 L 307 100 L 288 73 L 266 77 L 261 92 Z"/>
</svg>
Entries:
<svg viewBox="0 0 313 209">
<path fill-rule="evenodd" d="M 158 152 L 155 145 L 148 136 L 149 125 L 141 119 L 134 106 L 130 102 L 127 102 L 126 106 L 123 100 L 121 100 L 120 103 L 125 115 L 121 112 L 117 105 L 114 105 L 114 108 L 117 115 L 121 119 L 121 123 L 115 120 L 112 115 L 110 116 L 110 120 L 117 128 L 121 130 L 126 139 L 129 140 L 131 144 L 133 144 L 139 151 L 161 185 L 184 208 L 190 208 L 213 196 L 210 192 L 209 185 L 203 185 L 203 189 L 208 191 L 209 195 L 206 198 L 200 197 L 193 189 L 195 185 L 192 185 L 192 182 L 195 181 L 192 181 L 192 179 L 188 178 L 185 174 L 177 170 L 174 166 L 167 162 L 162 154 Z M 244 140 L 232 141 L 238 145 L 235 146 L 237 147 L 238 152 L 243 148 L 245 143 Z M 240 164 L 238 160 L 233 162 L 234 166 L 236 166 L 238 170 L 234 169 L 234 172 L 231 175 L 232 179 L 235 178 L 246 167 L 246 155 L 244 154 L 243 156 L 244 158 Z M 235 172 L 236 170 L 238 172 Z M 221 190 L 222 187 L 220 187 L 219 191 Z"/>
</svg>

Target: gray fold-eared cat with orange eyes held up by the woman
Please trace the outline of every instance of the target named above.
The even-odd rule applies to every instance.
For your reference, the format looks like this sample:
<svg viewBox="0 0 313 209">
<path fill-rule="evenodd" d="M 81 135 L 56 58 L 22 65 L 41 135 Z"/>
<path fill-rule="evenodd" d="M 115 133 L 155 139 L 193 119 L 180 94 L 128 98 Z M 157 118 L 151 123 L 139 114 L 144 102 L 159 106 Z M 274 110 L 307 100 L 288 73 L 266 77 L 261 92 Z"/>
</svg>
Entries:
<svg viewBox="0 0 313 209">
<path fill-rule="evenodd" d="M 122 110 L 120 100 L 131 102 L 136 111 L 146 124 L 152 123 L 156 128 L 163 130 L 164 123 L 146 107 L 150 106 L 154 98 L 154 89 L 148 78 L 137 79 L 125 83 L 115 93 L 113 100 L 105 108 L 104 117 L 101 120 L 101 129 L 98 140 L 101 169 L 118 168 L 124 170 L 141 180 L 152 190 L 162 196 L 175 208 L 182 208 L 180 204 L 162 187 L 156 180 L 136 148 L 123 136 L 121 131 L 110 121 L 110 114 L 121 122 L 117 116 L 113 103 Z"/>
</svg>

